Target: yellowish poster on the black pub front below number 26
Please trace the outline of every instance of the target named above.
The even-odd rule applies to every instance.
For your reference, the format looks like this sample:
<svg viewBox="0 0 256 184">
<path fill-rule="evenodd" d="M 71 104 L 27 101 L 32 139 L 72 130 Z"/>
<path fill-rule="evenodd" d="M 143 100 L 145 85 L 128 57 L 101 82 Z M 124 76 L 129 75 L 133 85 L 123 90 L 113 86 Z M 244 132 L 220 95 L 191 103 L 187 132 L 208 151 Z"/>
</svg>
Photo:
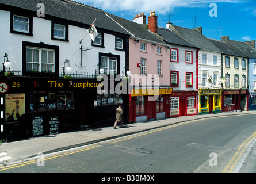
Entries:
<svg viewBox="0 0 256 184">
<path fill-rule="evenodd" d="M 5 120 L 20 121 L 25 114 L 25 94 L 5 94 Z"/>
</svg>

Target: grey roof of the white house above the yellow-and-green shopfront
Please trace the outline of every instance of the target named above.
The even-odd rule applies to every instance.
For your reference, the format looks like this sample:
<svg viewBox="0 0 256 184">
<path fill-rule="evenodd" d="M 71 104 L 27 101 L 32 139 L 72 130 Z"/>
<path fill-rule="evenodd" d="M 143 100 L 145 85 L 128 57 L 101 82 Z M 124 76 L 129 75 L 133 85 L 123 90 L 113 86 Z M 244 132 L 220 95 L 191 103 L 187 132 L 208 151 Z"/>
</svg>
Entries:
<svg viewBox="0 0 256 184">
<path fill-rule="evenodd" d="M 182 28 L 176 25 L 172 25 L 179 32 L 184 39 L 188 40 L 191 44 L 195 45 L 200 49 L 214 52 L 222 52 L 216 45 L 212 44 L 204 35 L 197 32 L 197 30 Z"/>
</svg>

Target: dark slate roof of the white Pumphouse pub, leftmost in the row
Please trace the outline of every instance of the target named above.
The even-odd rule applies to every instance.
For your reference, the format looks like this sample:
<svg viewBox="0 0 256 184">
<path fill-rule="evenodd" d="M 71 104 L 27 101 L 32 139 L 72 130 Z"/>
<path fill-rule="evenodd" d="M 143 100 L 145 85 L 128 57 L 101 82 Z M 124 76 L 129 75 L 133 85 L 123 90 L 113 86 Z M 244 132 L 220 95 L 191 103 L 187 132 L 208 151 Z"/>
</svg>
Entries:
<svg viewBox="0 0 256 184">
<path fill-rule="evenodd" d="M 38 3 L 43 3 L 45 6 L 45 18 L 47 16 L 59 17 L 89 26 L 97 18 L 94 22 L 96 28 L 127 34 L 116 22 L 106 16 L 104 11 L 69 0 L 0 0 L 0 9 L 2 9 L 1 6 L 8 5 L 36 13 L 39 10 L 36 7 Z"/>
</svg>

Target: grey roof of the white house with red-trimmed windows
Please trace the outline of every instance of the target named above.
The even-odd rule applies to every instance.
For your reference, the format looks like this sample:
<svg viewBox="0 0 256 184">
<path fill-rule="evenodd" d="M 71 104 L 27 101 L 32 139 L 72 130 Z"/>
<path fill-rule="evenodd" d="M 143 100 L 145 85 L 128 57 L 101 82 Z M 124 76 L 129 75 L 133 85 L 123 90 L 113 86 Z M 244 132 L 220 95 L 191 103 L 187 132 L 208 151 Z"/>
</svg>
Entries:
<svg viewBox="0 0 256 184">
<path fill-rule="evenodd" d="M 189 43 L 188 41 L 182 39 L 170 29 L 158 27 L 158 34 L 166 39 L 170 44 L 183 45 L 187 47 L 196 47 L 195 45 Z"/>
</svg>

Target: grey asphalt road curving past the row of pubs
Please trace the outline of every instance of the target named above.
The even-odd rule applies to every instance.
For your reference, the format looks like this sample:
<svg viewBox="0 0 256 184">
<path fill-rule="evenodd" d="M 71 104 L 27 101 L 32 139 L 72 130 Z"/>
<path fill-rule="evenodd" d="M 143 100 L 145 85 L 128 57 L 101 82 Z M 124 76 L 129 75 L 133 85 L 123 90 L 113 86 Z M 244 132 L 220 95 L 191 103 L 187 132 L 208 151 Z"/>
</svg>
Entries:
<svg viewBox="0 0 256 184">
<path fill-rule="evenodd" d="M 1 172 L 256 172 L 255 118 L 246 114 L 183 122 L 42 155 L 43 160 L 23 160 Z"/>
</svg>

